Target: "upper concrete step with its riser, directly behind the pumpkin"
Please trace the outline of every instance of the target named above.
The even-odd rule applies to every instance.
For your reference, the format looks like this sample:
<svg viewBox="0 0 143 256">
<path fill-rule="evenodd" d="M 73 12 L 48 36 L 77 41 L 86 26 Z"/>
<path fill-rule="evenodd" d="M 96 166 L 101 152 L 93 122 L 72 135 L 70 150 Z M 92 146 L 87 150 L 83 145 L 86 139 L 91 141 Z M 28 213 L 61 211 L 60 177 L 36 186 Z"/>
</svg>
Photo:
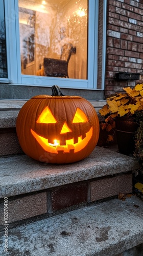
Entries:
<svg viewBox="0 0 143 256">
<path fill-rule="evenodd" d="M 19 110 L 26 102 L 27 100 L 0 99 L 0 156 L 23 153 L 16 135 L 16 119 Z M 98 113 L 106 101 L 90 101 L 90 103 Z"/>
</svg>

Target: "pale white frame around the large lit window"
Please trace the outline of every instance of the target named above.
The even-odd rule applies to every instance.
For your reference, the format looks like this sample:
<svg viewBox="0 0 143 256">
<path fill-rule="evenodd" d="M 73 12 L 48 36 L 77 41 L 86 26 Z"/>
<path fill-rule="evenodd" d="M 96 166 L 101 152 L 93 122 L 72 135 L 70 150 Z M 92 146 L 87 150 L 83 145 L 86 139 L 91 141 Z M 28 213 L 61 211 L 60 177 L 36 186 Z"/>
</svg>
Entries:
<svg viewBox="0 0 143 256">
<path fill-rule="evenodd" d="M 104 10 L 105 3 L 104 0 Z M 58 84 L 61 88 L 72 89 L 97 89 L 97 66 L 98 66 L 98 10 L 99 0 L 88 0 L 88 79 L 71 79 L 57 77 L 42 77 L 21 74 L 20 63 L 20 37 L 18 19 L 18 0 L 5 0 L 6 42 L 8 59 L 8 79 L 0 81 L 19 85 L 49 87 Z M 104 12 L 106 14 L 106 12 Z M 106 17 L 105 17 L 106 20 Z M 105 24 L 104 24 L 105 25 Z M 105 27 L 105 26 L 103 26 Z M 105 31 L 105 30 L 104 30 Z M 105 32 L 104 32 L 105 34 Z M 104 35 L 103 35 L 104 36 Z M 103 46 L 105 48 L 105 46 Z M 103 69 L 105 61 L 103 63 Z M 104 79 L 103 79 L 104 80 Z M 102 81 L 104 84 L 104 81 Z M 101 88 L 104 89 L 103 86 Z"/>
</svg>

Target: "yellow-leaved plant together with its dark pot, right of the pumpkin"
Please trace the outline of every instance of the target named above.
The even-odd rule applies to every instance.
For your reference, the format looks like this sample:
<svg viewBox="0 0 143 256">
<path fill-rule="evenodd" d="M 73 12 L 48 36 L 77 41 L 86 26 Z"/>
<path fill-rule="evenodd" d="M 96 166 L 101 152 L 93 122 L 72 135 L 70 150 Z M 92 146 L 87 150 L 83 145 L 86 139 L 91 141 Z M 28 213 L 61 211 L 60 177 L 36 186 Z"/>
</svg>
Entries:
<svg viewBox="0 0 143 256">
<path fill-rule="evenodd" d="M 134 136 L 143 113 L 143 84 L 137 84 L 132 89 L 123 88 L 123 90 L 125 92 L 115 93 L 114 96 L 107 98 L 107 104 L 99 110 L 99 113 L 105 117 L 105 121 L 101 122 L 101 129 L 110 132 L 108 141 L 113 141 L 116 134 L 120 153 L 133 155 Z M 113 131 L 112 134 L 111 131 Z"/>
</svg>

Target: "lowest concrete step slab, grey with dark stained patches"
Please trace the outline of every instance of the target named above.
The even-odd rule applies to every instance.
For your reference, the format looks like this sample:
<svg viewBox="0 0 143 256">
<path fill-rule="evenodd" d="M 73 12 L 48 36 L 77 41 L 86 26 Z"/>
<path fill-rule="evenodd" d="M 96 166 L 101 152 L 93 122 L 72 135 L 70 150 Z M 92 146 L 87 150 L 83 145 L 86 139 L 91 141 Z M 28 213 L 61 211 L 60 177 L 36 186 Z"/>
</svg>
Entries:
<svg viewBox="0 0 143 256">
<path fill-rule="evenodd" d="M 143 242 L 142 212 L 142 201 L 132 196 L 13 228 L 6 255 L 114 256 Z M 4 232 L 0 244 L 5 255 Z"/>
</svg>

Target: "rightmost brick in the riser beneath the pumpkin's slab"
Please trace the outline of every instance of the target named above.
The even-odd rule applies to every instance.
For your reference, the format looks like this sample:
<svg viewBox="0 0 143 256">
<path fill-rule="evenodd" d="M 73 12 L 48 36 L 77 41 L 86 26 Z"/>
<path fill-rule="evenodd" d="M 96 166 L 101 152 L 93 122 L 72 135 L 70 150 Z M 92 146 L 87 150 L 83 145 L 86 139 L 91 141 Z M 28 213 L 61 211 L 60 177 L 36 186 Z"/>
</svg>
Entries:
<svg viewBox="0 0 143 256">
<path fill-rule="evenodd" d="M 118 175 L 90 182 L 90 201 L 132 193 L 132 174 Z"/>
</svg>

